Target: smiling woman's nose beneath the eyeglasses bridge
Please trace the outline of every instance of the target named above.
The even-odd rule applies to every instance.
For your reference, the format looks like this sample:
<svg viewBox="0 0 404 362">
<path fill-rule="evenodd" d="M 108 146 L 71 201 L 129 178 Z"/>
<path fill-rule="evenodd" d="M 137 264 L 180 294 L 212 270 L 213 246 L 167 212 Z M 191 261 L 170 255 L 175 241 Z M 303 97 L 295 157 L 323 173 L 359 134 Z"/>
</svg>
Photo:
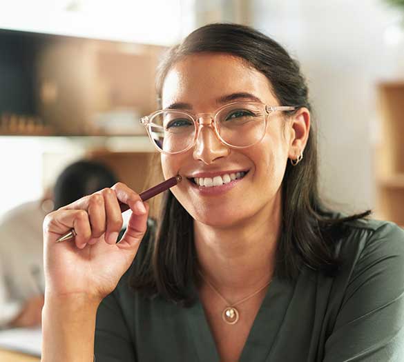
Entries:
<svg viewBox="0 0 404 362">
<path fill-rule="evenodd" d="M 193 147 L 193 158 L 209 165 L 220 157 L 226 157 L 230 148 L 218 139 L 213 125 L 200 125 L 198 137 Z"/>
</svg>

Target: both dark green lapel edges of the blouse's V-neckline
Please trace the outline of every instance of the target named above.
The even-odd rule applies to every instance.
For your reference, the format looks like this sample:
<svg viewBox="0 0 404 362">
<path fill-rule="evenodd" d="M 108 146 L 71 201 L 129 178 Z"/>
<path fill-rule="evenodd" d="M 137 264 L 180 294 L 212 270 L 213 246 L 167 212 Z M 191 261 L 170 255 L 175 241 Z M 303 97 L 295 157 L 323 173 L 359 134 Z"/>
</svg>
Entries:
<svg viewBox="0 0 404 362">
<path fill-rule="evenodd" d="M 266 361 L 287 313 L 294 285 L 273 276 L 242 348 L 239 362 Z M 191 290 L 195 301 L 190 308 L 186 308 L 186 316 L 198 360 L 220 361 L 198 290 L 193 283 Z"/>
</svg>

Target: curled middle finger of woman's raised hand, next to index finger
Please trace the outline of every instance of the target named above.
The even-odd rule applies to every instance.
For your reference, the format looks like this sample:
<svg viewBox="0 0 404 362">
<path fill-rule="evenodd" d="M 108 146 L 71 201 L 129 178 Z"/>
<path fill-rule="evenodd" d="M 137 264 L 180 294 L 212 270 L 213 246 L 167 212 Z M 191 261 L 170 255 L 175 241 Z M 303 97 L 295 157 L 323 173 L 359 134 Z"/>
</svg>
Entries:
<svg viewBox="0 0 404 362">
<path fill-rule="evenodd" d="M 109 244 L 115 244 L 124 223 L 121 208 L 119 207 L 119 201 L 115 190 L 105 188 L 101 193 L 104 197 L 106 212 L 105 241 Z"/>
</svg>

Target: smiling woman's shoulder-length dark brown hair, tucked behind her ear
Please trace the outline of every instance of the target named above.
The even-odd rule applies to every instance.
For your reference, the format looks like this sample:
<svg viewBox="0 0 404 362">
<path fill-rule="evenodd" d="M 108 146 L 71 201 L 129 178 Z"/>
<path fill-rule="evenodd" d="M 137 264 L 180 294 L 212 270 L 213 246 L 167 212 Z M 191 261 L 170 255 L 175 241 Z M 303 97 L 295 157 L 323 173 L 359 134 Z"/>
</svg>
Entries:
<svg viewBox="0 0 404 362">
<path fill-rule="evenodd" d="M 157 70 L 157 97 L 161 106 L 162 85 L 171 67 L 190 54 L 220 52 L 239 57 L 262 72 L 281 105 L 311 110 L 307 84 L 298 62 L 276 41 L 250 28 L 231 23 L 214 23 L 189 34 L 173 46 Z M 297 110 L 285 112 L 285 117 Z M 334 245 L 344 236 L 348 221 L 367 217 L 371 210 L 349 217 L 333 212 L 320 200 L 316 129 L 311 124 L 305 156 L 296 166 L 289 162 L 282 181 L 282 236 L 278 241 L 275 274 L 295 279 L 302 265 L 333 276 L 342 261 Z M 193 219 L 169 191 L 153 242 L 131 285 L 146 294 L 160 294 L 171 301 L 191 301 L 186 285 L 196 279 L 197 259 L 193 243 Z"/>
</svg>

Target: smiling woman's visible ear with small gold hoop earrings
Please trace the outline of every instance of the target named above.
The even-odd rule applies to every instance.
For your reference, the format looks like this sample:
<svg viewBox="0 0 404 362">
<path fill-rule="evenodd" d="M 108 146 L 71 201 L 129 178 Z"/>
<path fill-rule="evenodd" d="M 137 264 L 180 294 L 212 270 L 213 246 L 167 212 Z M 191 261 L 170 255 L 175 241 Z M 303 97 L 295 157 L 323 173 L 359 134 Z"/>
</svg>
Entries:
<svg viewBox="0 0 404 362">
<path fill-rule="evenodd" d="M 310 111 L 303 107 L 290 119 L 291 137 L 289 139 L 289 159 L 297 159 L 298 155 L 305 150 L 310 132 Z"/>
</svg>

